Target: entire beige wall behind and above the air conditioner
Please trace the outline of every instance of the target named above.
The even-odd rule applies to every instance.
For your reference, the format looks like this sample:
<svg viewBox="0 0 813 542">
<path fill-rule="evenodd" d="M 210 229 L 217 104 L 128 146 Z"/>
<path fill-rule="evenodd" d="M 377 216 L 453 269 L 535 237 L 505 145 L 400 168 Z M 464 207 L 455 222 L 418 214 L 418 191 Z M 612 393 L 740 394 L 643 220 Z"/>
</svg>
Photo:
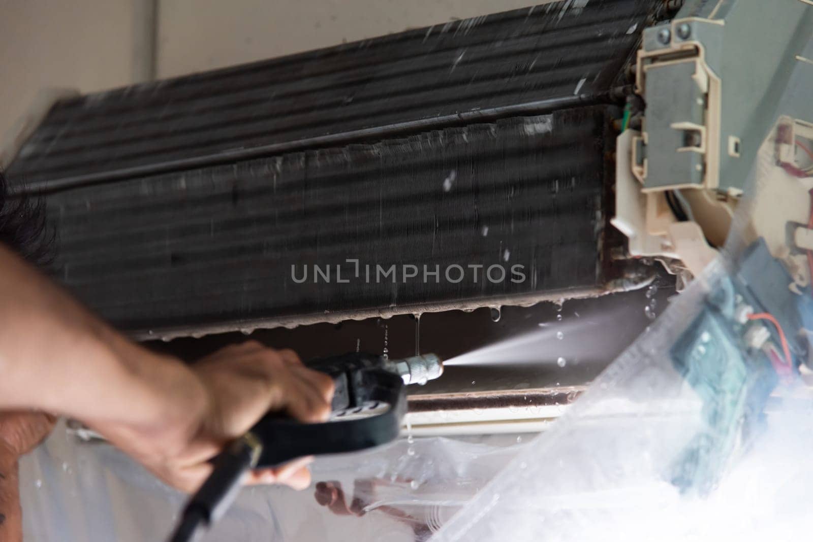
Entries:
<svg viewBox="0 0 813 542">
<path fill-rule="evenodd" d="M 0 0 L 0 144 L 44 87 L 92 92 L 153 65 L 169 77 L 550 1 Z"/>
</svg>

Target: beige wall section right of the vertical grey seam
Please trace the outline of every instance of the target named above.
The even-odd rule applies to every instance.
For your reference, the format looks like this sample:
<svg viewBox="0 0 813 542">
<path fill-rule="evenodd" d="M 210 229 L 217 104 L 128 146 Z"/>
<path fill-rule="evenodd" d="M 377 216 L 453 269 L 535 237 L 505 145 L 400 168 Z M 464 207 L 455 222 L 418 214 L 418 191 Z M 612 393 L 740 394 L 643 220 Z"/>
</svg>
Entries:
<svg viewBox="0 0 813 542">
<path fill-rule="evenodd" d="M 158 73 L 209 70 L 546 2 L 161 0 Z"/>
</svg>

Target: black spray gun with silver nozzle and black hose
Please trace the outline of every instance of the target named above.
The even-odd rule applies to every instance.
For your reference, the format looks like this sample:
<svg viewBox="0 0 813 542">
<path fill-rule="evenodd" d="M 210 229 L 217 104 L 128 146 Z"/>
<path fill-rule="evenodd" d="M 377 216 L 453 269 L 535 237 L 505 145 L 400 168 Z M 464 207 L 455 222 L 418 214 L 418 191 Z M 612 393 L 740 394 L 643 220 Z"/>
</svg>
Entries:
<svg viewBox="0 0 813 542">
<path fill-rule="evenodd" d="M 333 378 L 331 415 L 302 424 L 268 413 L 215 458 L 214 471 L 187 502 L 170 542 L 195 540 L 232 504 L 250 469 L 276 467 L 308 455 L 366 450 L 393 441 L 406 413 L 404 385 L 425 384 L 443 373 L 434 354 L 387 359 L 363 353 L 314 359 L 308 368 Z"/>
</svg>

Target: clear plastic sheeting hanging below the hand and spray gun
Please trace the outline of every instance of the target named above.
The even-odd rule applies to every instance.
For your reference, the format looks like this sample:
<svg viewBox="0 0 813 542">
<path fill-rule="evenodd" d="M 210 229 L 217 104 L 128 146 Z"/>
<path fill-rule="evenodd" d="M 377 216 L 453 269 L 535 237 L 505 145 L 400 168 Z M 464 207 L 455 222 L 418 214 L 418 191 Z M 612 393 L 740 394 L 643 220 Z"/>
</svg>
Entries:
<svg viewBox="0 0 813 542">
<path fill-rule="evenodd" d="M 320 458 L 311 488 L 244 488 L 203 540 L 425 540 L 524 446 L 510 435 L 476 440 L 416 438 Z M 27 541 L 164 540 L 185 501 L 118 450 L 80 441 L 63 424 L 23 459 L 20 479 Z M 322 496 L 338 489 L 344 499 L 328 505 Z"/>
</svg>

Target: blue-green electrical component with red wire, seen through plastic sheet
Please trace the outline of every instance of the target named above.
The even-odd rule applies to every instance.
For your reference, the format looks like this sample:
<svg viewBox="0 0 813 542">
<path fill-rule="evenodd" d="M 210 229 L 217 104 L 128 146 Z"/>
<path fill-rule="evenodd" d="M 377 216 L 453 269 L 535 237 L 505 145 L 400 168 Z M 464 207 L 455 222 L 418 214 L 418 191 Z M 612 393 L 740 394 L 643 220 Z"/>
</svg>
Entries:
<svg viewBox="0 0 813 542">
<path fill-rule="evenodd" d="M 737 273 L 711 285 L 702 311 L 672 346 L 672 364 L 703 403 L 703 428 L 670 473 L 684 493 L 704 495 L 714 487 L 737 442 L 761 423 L 780 377 L 793 378 L 798 359 L 806 359 L 806 344 L 785 333 L 802 328 L 791 309 L 799 296 L 790 292 L 790 282 L 759 239 L 737 262 Z"/>
</svg>

